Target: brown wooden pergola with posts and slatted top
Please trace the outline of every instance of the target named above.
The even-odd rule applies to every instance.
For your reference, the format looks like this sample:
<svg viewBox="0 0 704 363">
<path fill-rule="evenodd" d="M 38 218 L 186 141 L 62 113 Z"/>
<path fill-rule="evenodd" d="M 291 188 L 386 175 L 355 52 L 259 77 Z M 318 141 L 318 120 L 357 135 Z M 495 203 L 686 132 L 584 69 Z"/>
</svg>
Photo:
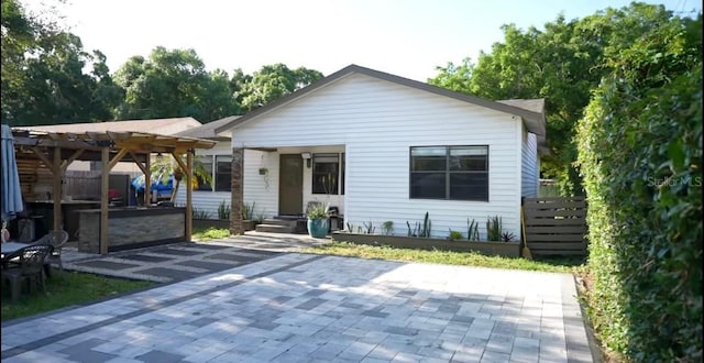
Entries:
<svg viewBox="0 0 704 363">
<path fill-rule="evenodd" d="M 144 198 L 148 204 L 151 183 L 151 154 L 170 154 L 186 177 L 186 239 L 193 235 L 193 162 L 196 148 L 211 148 L 215 141 L 161 135 L 147 132 L 43 132 L 31 128 L 13 128 L 18 160 L 34 158 L 38 167 L 53 174 L 53 229 L 62 228 L 62 180 L 74 161 L 101 163 L 100 178 L 100 253 L 108 253 L 108 207 L 110 170 L 119 162 L 133 162 L 144 173 Z M 186 162 L 182 155 L 186 155 Z"/>
</svg>

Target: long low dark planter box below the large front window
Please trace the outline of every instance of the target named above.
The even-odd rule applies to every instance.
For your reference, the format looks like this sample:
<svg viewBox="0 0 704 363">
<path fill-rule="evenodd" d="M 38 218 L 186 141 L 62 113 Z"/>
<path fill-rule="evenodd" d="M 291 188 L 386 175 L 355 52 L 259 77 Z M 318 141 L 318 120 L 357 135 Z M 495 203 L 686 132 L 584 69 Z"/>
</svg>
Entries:
<svg viewBox="0 0 704 363">
<path fill-rule="evenodd" d="M 332 240 L 356 244 L 388 245 L 399 249 L 477 252 L 487 256 L 520 256 L 520 242 L 450 241 L 433 238 L 359 234 L 346 232 L 333 232 Z"/>
</svg>

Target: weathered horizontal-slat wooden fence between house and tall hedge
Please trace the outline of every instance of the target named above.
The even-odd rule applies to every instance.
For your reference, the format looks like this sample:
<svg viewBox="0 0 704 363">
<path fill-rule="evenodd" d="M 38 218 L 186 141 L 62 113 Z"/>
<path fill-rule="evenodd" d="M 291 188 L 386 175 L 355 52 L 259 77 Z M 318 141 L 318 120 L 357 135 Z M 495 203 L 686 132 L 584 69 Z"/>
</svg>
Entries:
<svg viewBox="0 0 704 363">
<path fill-rule="evenodd" d="M 583 197 L 526 198 L 522 209 L 532 255 L 586 255 Z"/>
</svg>

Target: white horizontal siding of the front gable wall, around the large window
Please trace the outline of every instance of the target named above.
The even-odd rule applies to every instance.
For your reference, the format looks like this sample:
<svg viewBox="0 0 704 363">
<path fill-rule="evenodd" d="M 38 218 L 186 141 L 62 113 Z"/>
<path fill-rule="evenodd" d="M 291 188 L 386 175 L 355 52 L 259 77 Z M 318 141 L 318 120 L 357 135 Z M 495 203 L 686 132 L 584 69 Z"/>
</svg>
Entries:
<svg viewBox="0 0 704 363">
<path fill-rule="evenodd" d="M 521 123 L 510 114 L 351 75 L 252 121 L 234 129 L 233 145 L 344 145 L 345 222 L 380 231 L 391 220 L 406 234 L 428 211 L 436 237 L 466 234 L 468 218 L 484 235 L 487 217 L 501 216 L 519 234 Z M 422 145 L 488 145 L 490 201 L 410 199 L 409 148 Z"/>
</svg>

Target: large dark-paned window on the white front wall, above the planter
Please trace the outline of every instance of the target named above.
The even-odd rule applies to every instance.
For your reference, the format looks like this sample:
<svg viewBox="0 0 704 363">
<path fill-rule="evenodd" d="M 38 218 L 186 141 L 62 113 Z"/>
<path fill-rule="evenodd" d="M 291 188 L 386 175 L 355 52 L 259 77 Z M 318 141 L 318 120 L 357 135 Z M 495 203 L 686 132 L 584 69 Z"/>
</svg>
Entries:
<svg viewBox="0 0 704 363">
<path fill-rule="evenodd" d="M 488 146 L 410 147 L 410 198 L 488 201 Z"/>
</svg>

